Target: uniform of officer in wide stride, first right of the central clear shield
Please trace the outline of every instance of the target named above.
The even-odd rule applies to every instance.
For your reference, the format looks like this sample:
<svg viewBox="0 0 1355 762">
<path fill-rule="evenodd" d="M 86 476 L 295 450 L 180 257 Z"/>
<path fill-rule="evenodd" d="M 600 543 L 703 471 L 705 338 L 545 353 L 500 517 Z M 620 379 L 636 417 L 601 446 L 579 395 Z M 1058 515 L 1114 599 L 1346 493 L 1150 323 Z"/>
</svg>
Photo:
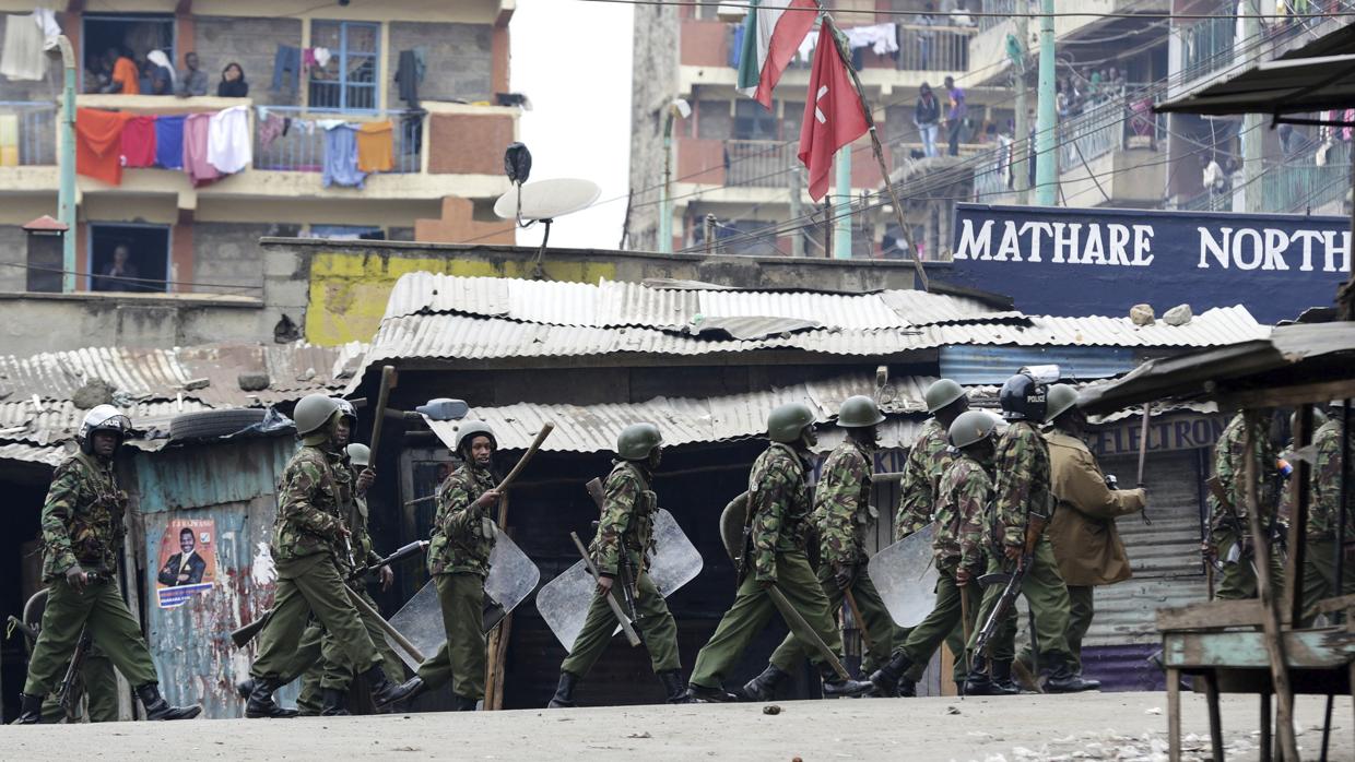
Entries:
<svg viewBox="0 0 1355 762">
<path fill-rule="evenodd" d="M 752 564 L 745 568 L 733 606 L 696 655 L 691 683 L 699 688 L 722 689 L 726 673 L 776 610 L 764 583 L 775 583 L 818 637 L 835 652 L 841 652 L 841 635 L 829 612 L 828 597 L 805 556 L 809 486 L 805 463 L 794 448 L 772 443 L 757 456 L 748 476 L 748 510 L 752 512 Z M 822 662 L 812 644 L 802 646 L 810 660 Z"/>
</svg>

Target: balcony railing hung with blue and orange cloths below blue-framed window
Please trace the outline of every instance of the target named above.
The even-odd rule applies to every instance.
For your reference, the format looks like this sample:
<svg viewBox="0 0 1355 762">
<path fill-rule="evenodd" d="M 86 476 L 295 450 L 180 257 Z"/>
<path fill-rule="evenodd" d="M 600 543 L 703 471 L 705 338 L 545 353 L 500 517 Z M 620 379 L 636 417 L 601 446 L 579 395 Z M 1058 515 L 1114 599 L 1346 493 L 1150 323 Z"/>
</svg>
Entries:
<svg viewBox="0 0 1355 762">
<path fill-rule="evenodd" d="M 266 120 L 255 122 L 255 169 L 271 172 L 322 172 L 325 162 L 325 129 L 328 119 L 350 120 L 343 111 L 297 107 L 267 107 L 282 118 L 286 129 L 271 135 Z M 417 111 L 378 111 L 364 114 L 367 120 L 389 119 L 394 127 L 393 173 L 412 175 L 423 166 L 421 146 L 427 115 Z"/>
</svg>

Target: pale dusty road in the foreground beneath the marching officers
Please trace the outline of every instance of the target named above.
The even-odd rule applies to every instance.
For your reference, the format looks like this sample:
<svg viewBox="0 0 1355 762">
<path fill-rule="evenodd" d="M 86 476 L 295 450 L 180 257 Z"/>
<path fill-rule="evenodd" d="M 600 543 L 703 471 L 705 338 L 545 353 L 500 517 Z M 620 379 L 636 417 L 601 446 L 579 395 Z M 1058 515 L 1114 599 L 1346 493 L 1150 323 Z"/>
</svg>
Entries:
<svg viewBox="0 0 1355 762">
<path fill-rule="evenodd" d="M 1256 759 L 1257 701 L 1225 697 L 1229 759 Z M 3 759 L 1030 759 L 1165 761 L 1161 693 L 617 707 L 297 720 L 0 727 Z M 1183 696 L 1186 748 L 1209 757 L 1205 700 Z M 1322 700 L 1301 697 L 1305 759 Z M 1336 702 L 1331 759 L 1355 759 L 1350 698 Z"/>
</svg>

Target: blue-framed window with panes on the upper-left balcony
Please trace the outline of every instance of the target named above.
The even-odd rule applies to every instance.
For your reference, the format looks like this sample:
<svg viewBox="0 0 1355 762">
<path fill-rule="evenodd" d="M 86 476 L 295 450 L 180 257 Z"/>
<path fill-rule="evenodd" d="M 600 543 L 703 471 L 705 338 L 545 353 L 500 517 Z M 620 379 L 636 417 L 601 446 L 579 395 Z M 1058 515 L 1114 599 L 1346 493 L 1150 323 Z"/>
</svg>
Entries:
<svg viewBox="0 0 1355 762">
<path fill-rule="evenodd" d="M 313 22 L 312 47 L 324 47 L 329 60 L 310 69 L 310 108 L 377 110 L 381 68 L 381 24 Z"/>
</svg>

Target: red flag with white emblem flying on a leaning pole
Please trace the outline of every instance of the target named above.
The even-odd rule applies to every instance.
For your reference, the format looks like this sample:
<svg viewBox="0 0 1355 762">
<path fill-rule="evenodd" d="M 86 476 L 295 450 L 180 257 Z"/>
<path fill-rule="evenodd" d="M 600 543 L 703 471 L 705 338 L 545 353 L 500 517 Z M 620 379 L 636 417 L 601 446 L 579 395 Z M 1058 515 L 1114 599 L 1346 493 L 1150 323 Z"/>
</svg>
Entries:
<svg viewBox="0 0 1355 762">
<path fill-rule="evenodd" d="M 809 169 L 809 198 L 818 200 L 828 192 L 828 176 L 837 149 L 866 134 L 866 112 L 851 76 L 837 53 L 832 24 L 825 19 L 818 28 L 814 69 L 809 76 L 805 118 L 799 126 L 799 161 Z"/>
</svg>

